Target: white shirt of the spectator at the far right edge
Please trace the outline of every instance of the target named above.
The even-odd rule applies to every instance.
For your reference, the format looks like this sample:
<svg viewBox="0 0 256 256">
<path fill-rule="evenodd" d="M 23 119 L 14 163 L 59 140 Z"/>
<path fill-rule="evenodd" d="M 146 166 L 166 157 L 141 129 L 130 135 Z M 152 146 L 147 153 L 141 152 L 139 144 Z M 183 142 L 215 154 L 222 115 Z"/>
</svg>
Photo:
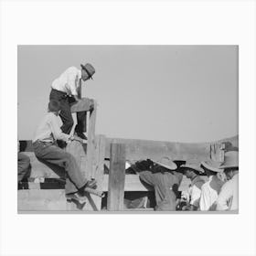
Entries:
<svg viewBox="0 0 256 256">
<path fill-rule="evenodd" d="M 221 187 L 217 199 L 217 210 L 239 209 L 239 174 L 233 176 Z"/>
</svg>

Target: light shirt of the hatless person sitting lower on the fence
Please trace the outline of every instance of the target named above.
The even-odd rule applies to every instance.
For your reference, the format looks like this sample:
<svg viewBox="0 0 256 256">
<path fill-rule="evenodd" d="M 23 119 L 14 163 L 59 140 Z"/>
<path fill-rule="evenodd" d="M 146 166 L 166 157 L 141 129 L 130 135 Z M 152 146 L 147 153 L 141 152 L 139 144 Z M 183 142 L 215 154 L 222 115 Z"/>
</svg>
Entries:
<svg viewBox="0 0 256 256">
<path fill-rule="evenodd" d="M 53 142 L 55 140 L 68 141 L 70 135 L 62 133 L 59 128 L 58 116 L 53 112 L 48 112 L 37 127 L 33 142 Z"/>
</svg>

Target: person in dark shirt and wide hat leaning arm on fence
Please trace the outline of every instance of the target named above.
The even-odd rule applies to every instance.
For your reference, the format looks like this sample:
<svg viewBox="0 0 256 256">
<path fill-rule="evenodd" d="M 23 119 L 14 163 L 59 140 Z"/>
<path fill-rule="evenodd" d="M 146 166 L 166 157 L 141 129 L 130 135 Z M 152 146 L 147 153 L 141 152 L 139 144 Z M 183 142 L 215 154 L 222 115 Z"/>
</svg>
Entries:
<svg viewBox="0 0 256 256">
<path fill-rule="evenodd" d="M 150 168 L 139 173 L 146 184 L 154 187 L 155 210 L 176 210 L 176 197 L 182 174 L 175 171 L 176 164 L 163 157 Z"/>
</svg>

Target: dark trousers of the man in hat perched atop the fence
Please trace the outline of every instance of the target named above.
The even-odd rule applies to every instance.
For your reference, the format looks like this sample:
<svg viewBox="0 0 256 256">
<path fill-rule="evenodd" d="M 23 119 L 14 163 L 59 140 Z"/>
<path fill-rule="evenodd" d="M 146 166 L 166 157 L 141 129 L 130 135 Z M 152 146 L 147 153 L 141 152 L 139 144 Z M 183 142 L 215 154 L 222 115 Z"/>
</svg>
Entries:
<svg viewBox="0 0 256 256">
<path fill-rule="evenodd" d="M 49 94 L 49 100 L 56 100 L 60 103 L 59 116 L 62 121 L 60 127 L 63 133 L 69 134 L 74 124 L 72 114 L 70 111 L 70 105 L 75 102 L 73 97 L 69 97 L 67 93 L 52 89 Z M 78 124 L 76 125 L 75 131 L 77 133 L 86 132 L 86 112 L 77 112 Z"/>
</svg>

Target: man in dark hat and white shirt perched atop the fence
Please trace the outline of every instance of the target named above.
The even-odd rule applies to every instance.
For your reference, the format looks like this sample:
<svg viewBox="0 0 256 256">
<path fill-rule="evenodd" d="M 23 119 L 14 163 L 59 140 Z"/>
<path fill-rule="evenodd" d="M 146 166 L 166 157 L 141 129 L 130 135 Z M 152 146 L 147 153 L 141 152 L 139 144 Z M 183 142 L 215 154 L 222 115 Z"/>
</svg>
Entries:
<svg viewBox="0 0 256 256">
<path fill-rule="evenodd" d="M 62 120 L 61 131 L 69 134 L 73 126 L 73 118 L 70 111 L 70 103 L 80 101 L 81 81 L 92 79 L 95 69 L 90 63 L 85 65 L 80 64 L 80 69 L 70 67 L 66 69 L 58 79 L 51 84 L 51 91 L 49 100 L 56 100 L 60 102 L 61 111 L 59 116 Z M 93 109 L 93 101 L 91 101 L 90 109 Z M 86 132 L 86 112 L 78 112 L 78 124 L 75 132 L 82 139 L 87 139 L 83 132 Z"/>
</svg>

